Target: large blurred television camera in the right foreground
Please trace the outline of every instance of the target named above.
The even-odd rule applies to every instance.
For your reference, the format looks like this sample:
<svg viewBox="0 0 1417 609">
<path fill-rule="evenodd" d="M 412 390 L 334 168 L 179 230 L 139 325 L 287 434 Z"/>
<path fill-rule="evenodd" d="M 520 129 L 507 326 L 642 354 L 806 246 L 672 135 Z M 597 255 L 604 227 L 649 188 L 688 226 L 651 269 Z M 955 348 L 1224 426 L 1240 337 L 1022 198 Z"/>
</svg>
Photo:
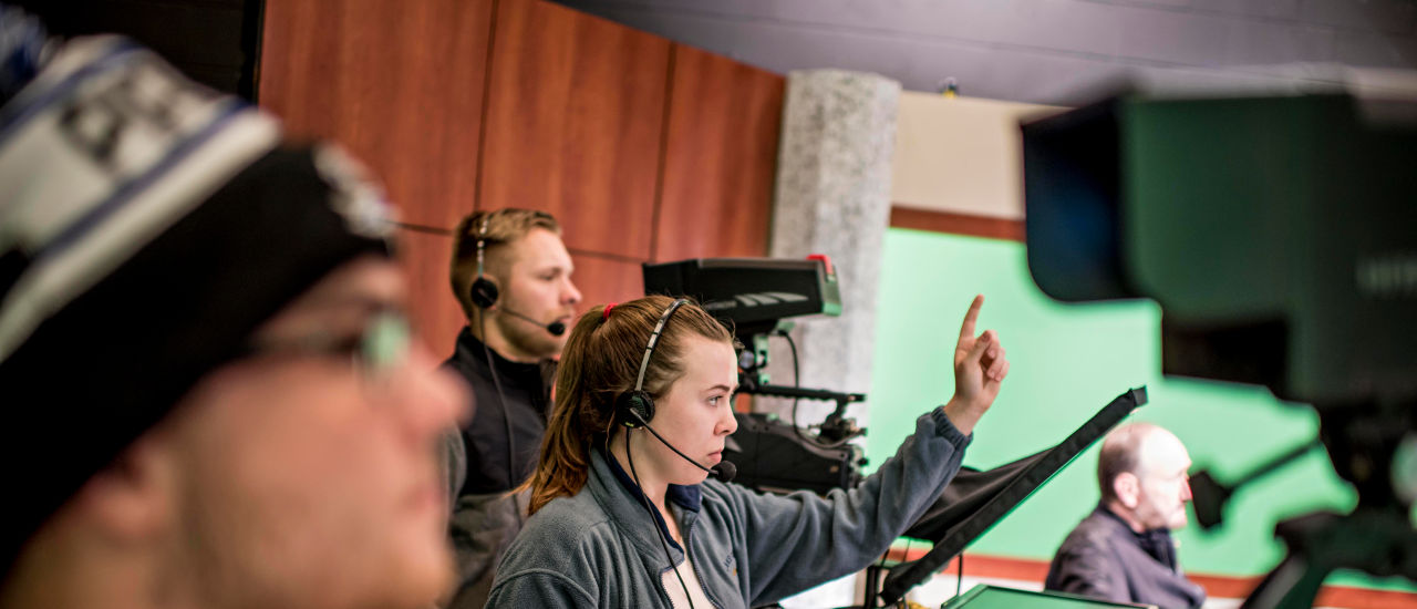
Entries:
<svg viewBox="0 0 1417 609">
<path fill-rule="evenodd" d="M 1417 103 L 1129 93 L 1023 126 L 1027 258 L 1066 302 L 1151 297 L 1163 372 L 1260 384 L 1319 415 L 1357 490 L 1280 523 L 1244 608 L 1308 608 L 1338 568 L 1417 581 Z M 1193 477 L 1197 521 L 1240 484 Z"/>
</svg>

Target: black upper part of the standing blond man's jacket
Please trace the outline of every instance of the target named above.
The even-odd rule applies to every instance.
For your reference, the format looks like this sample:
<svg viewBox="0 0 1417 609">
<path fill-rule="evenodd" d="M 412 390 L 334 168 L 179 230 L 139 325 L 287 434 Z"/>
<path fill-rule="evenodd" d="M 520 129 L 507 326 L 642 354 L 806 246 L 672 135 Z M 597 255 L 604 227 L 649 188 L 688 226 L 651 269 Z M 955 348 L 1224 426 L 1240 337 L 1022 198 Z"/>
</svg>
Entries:
<svg viewBox="0 0 1417 609">
<path fill-rule="evenodd" d="M 520 364 L 492 351 L 496 381 L 487 365 L 486 350 L 472 330 L 462 329 L 453 355 L 444 363 L 458 371 L 478 399 L 472 421 L 462 429 L 468 450 L 468 477 L 459 496 L 487 494 L 512 490 L 536 469 L 546 433 L 550 402 L 550 377 L 554 363 Z M 512 419 L 512 463 L 507 466 L 507 423 Z"/>
</svg>

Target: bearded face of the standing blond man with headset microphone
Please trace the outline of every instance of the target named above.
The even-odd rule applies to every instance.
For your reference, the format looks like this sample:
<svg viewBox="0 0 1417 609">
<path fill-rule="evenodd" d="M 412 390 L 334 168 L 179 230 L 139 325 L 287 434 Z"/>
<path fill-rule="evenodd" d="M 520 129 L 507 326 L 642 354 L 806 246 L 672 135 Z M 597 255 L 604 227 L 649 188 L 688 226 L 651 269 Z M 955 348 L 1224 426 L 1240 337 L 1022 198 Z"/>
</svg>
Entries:
<svg viewBox="0 0 1417 609">
<path fill-rule="evenodd" d="M 575 324 L 575 303 L 581 302 L 581 292 L 571 283 L 575 265 L 560 237 L 533 228 L 526 237 L 500 248 L 497 255 L 506 258 L 495 278 L 500 295 L 493 310 L 516 312 L 541 326 L 561 321 L 570 329 Z M 546 327 L 510 314 L 489 319 L 487 344 L 513 361 L 560 355 L 568 337 L 570 333 L 553 336 Z"/>
</svg>

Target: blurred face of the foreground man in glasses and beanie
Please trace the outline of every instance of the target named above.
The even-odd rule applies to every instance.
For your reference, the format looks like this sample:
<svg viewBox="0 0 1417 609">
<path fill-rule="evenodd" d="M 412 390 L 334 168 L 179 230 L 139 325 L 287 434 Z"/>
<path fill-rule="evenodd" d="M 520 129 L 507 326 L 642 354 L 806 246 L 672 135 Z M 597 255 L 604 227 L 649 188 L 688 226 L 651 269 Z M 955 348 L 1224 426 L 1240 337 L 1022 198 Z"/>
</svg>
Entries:
<svg viewBox="0 0 1417 609">
<path fill-rule="evenodd" d="M 402 297 L 394 263 L 350 262 L 179 406 L 173 571 L 208 606 L 418 608 L 448 588 L 438 442 L 468 395 L 422 346 L 388 348 L 380 313 Z M 381 336 L 374 363 L 341 347 Z"/>
</svg>

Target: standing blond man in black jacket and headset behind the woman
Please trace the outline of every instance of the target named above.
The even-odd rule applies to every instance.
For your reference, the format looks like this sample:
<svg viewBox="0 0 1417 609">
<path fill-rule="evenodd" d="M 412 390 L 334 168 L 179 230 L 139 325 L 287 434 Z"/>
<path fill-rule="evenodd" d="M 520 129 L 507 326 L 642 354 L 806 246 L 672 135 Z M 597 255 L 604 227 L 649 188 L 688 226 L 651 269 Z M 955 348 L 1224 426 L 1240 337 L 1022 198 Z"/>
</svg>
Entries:
<svg viewBox="0 0 1417 609">
<path fill-rule="evenodd" d="M 554 358 L 581 293 L 550 214 L 475 212 L 459 222 L 456 238 L 451 280 L 468 326 L 444 365 L 466 378 L 478 408 L 459 435 L 466 479 L 449 525 L 459 578 L 449 606 L 482 608 L 502 552 L 526 520 L 526 493 L 509 491 L 536 467 Z"/>
</svg>

